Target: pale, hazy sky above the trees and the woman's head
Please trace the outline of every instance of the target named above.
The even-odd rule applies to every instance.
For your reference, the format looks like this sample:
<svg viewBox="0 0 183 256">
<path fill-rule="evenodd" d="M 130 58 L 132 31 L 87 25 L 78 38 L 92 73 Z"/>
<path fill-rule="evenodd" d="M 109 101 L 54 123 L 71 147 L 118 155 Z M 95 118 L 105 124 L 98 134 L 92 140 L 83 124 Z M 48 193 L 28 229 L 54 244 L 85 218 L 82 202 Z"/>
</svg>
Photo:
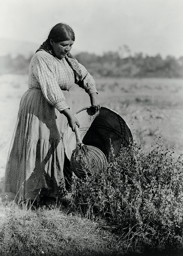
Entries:
<svg viewBox="0 0 183 256">
<path fill-rule="evenodd" d="M 75 51 L 183 56 L 183 0 L 0 0 L 1 38 L 41 44 L 59 22 Z"/>
</svg>

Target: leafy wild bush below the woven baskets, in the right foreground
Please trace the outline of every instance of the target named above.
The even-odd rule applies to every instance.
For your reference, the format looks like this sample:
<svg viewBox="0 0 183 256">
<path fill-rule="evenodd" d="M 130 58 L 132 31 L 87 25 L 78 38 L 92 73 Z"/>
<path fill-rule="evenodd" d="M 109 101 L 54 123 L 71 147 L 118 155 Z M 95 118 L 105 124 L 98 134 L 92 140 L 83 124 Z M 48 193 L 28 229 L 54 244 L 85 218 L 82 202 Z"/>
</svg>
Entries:
<svg viewBox="0 0 183 256">
<path fill-rule="evenodd" d="M 84 217 L 116 225 L 126 253 L 173 253 L 183 248 L 183 161 L 162 138 L 145 154 L 134 142 L 99 177 L 73 179 L 74 205 Z"/>
</svg>

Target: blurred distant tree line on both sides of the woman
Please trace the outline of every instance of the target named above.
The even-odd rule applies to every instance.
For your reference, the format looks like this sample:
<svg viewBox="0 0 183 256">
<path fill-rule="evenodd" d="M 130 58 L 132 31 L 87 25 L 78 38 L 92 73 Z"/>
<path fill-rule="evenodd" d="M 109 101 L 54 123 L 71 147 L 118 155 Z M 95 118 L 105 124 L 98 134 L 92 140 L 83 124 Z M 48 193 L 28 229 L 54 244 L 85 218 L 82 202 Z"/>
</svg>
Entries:
<svg viewBox="0 0 183 256">
<path fill-rule="evenodd" d="M 183 77 L 183 57 L 176 59 L 167 56 L 165 59 L 157 54 L 155 57 L 135 56 L 122 58 L 118 51 L 109 51 L 102 56 L 94 53 L 79 53 L 74 56 L 94 76 L 102 77 Z M 32 56 L 25 58 L 18 55 L 0 57 L 0 75 L 5 73 L 28 74 Z"/>
</svg>

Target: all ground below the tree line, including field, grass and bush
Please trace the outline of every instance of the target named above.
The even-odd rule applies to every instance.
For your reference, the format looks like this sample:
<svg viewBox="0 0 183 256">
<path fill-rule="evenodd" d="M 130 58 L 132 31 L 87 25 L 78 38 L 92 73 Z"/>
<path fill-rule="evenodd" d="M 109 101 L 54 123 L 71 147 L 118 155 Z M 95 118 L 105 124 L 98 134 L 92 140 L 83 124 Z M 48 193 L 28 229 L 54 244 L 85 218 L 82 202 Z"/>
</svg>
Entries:
<svg viewBox="0 0 183 256">
<path fill-rule="evenodd" d="M 183 152 L 183 80 L 95 81 L 101 105 L 124 118 L 137 143 L 114 159 L 97 182 L 94 176 L 73 179 L 74 203 L 64 209 L 5 207 L 0 201 L 0 254 L 182 255 L 183 164 L 176 158 Z M 27 88 L 27 75 L 0 76 L 0 190 Z M 71 95 L 73 113 L 90 106 L 78 86 Z M 164 149 L 161 140 L 152 148 L 160 135 Z M 175 148 L 173 157 L 167 147 Z"/>
</svg>

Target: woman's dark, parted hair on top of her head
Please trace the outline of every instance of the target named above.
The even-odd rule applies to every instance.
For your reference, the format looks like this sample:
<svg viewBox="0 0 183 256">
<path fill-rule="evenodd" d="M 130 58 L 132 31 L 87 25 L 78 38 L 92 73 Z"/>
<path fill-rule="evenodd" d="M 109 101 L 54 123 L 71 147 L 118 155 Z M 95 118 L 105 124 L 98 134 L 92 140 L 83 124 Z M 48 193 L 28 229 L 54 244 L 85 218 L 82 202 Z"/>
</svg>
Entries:
<svg viewBox="0 0 183 256">
<path fill-rule="evenodd" d="M 55 43 L 67 41 L 69 39 L 75 41 L 75 35 L 73 29 L 69 25 L 58 23 L 50 30 L 47 41 L 50 42 L 50 39 Z"/>
</svg>

